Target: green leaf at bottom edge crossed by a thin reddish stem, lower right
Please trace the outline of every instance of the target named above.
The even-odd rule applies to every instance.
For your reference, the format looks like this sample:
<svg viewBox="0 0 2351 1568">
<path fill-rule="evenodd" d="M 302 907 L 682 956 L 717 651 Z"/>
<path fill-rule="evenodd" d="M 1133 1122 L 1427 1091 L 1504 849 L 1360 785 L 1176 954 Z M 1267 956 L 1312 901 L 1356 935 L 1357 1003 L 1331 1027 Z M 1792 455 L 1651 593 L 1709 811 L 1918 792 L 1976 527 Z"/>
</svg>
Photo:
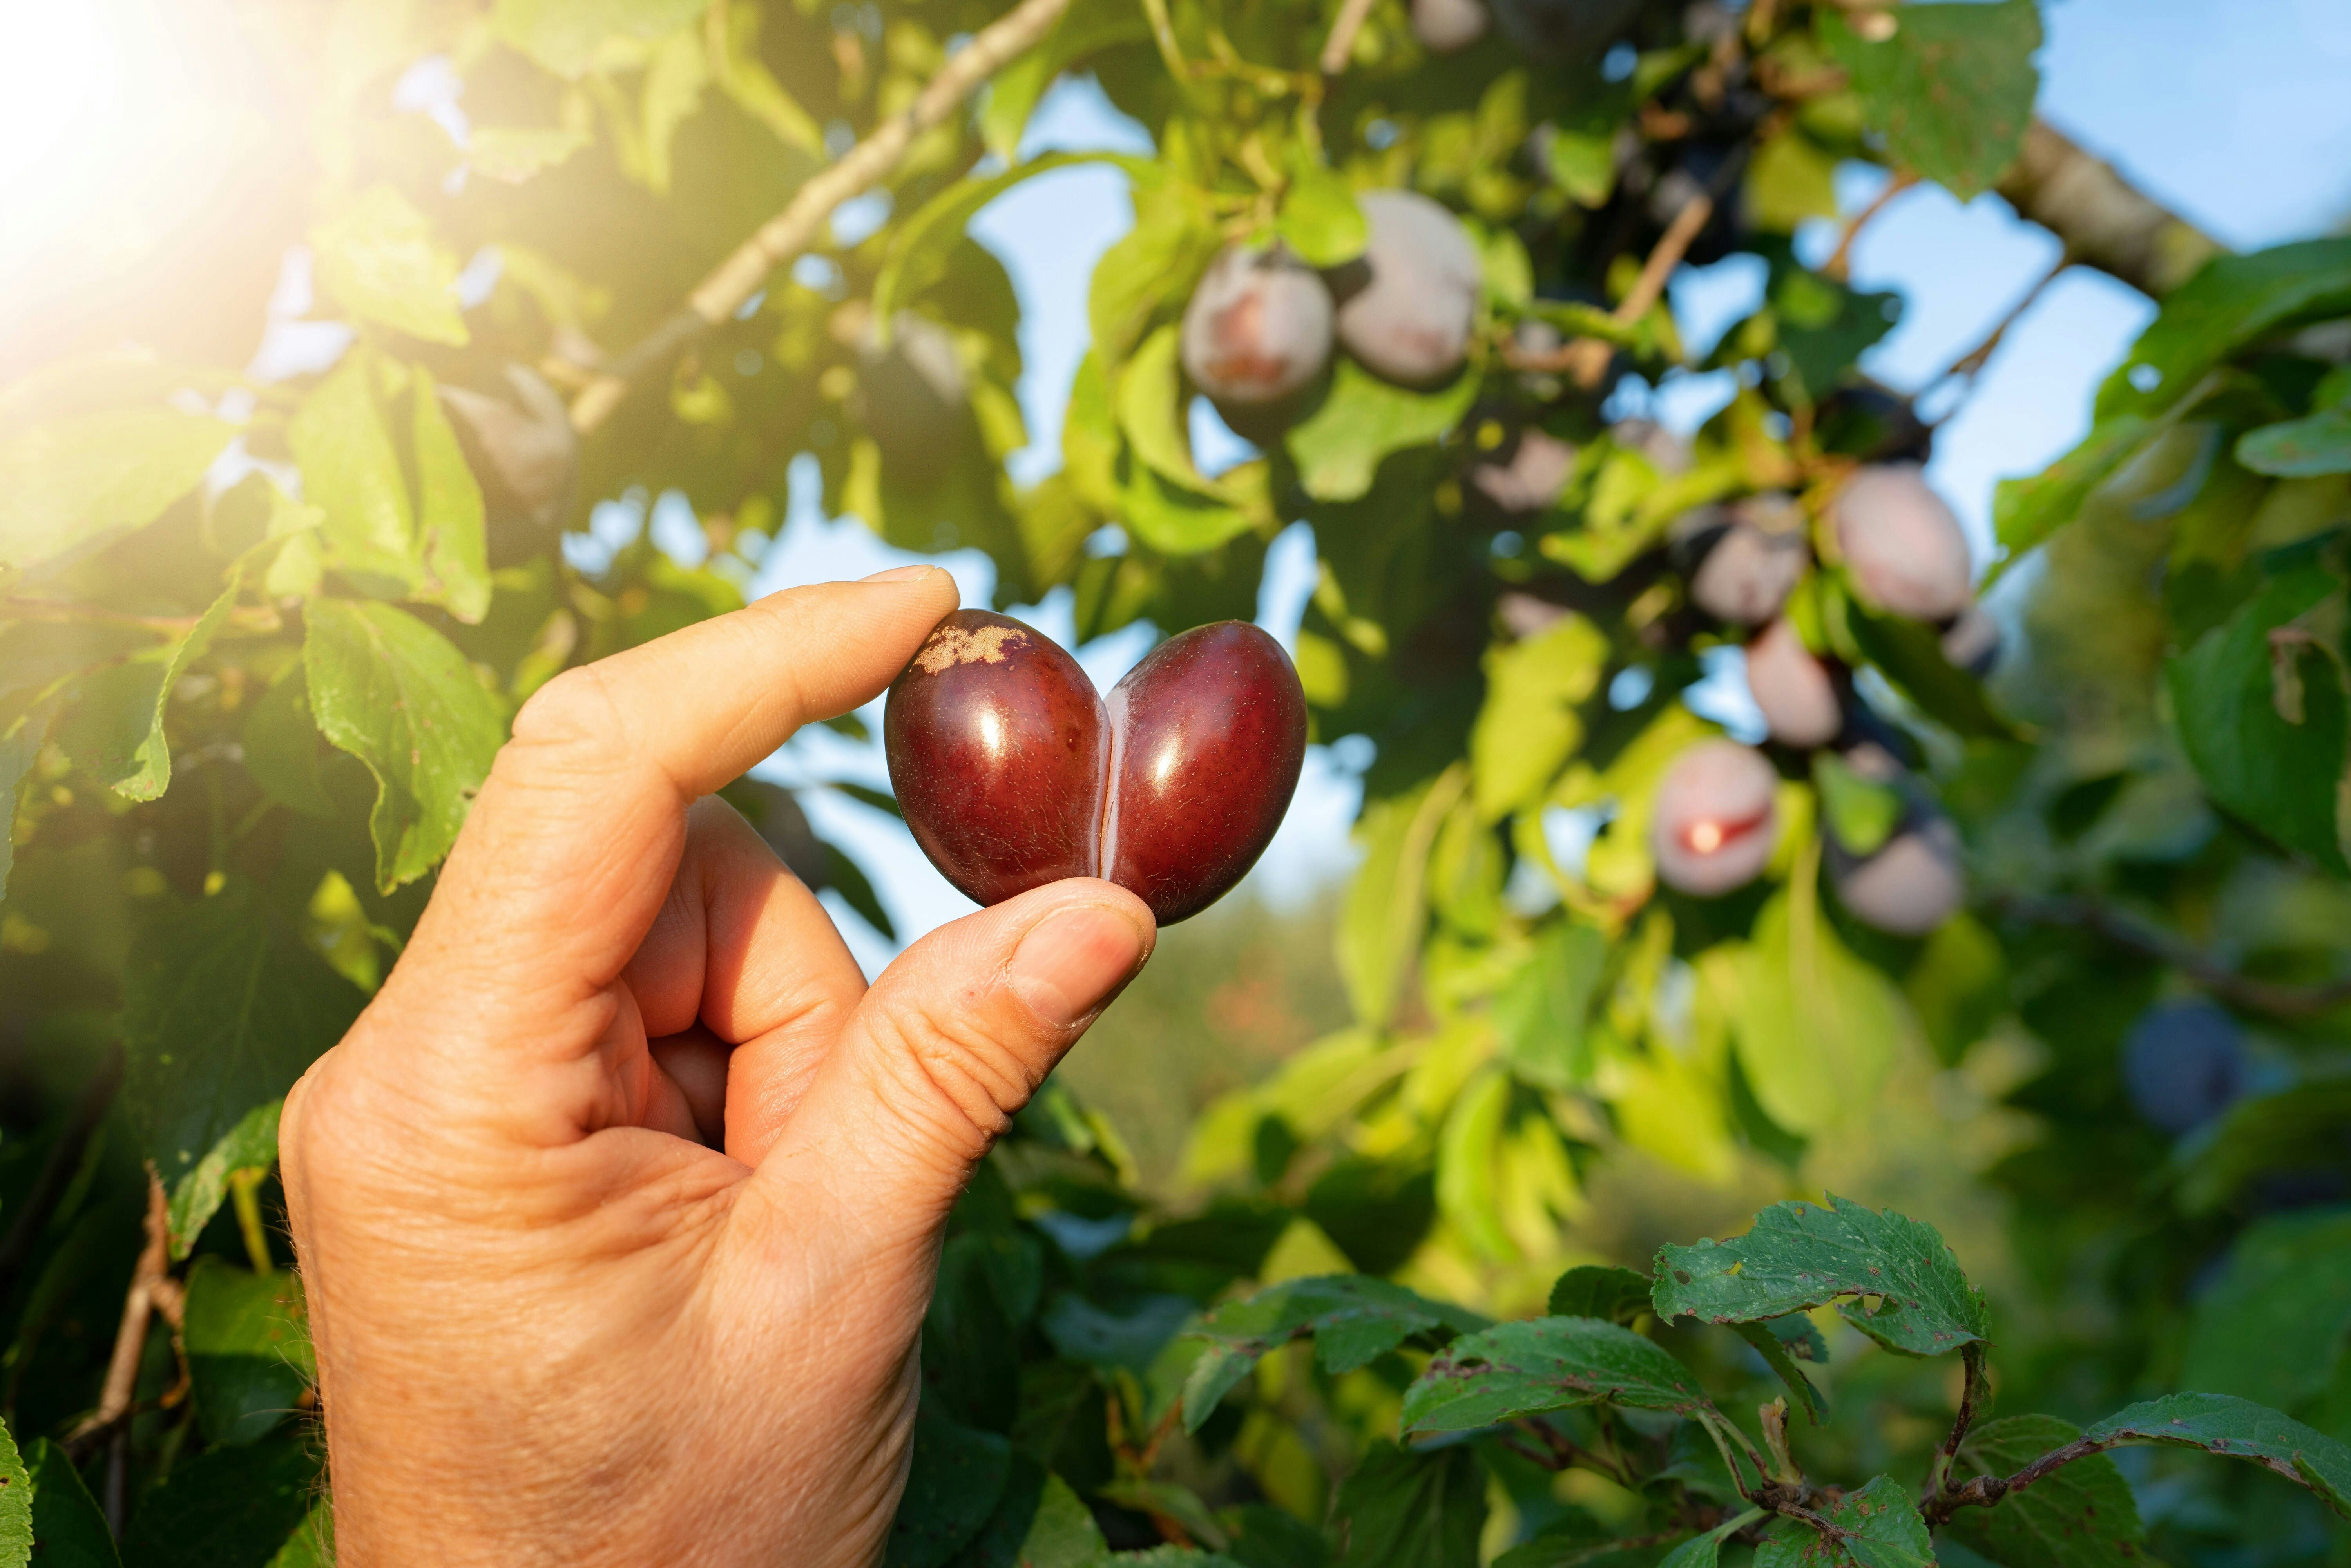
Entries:
<svg viewBox="0 0 2351 1568">
<path fill-rule="evenodd" d="M 2081 1427 L 2055 1415 L 1987 1422 L 1961 1443 L 1958 1479 L 2012 1476 L 2076 1439 Z M 2135 1568 L 2146 1561 L 2130 1481 L 2102 1453 L 2052 1469 L 1996 1507 L 1958 1509 L 1944 1528 L 2001 1568 Z"/>
</svg>

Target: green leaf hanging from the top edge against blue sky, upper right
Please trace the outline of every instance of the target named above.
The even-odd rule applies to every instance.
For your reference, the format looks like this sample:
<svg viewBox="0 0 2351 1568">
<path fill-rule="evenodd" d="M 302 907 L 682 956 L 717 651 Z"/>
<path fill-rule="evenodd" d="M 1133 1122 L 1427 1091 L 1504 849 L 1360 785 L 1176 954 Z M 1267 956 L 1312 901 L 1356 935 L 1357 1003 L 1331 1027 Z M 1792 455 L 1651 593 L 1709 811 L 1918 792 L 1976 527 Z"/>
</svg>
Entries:
<svg viewBox="0 0 2351 1568">
<path fill-rule="evenodd" d="M 1843 12 L 1817 19 L 1822 49 L 1853 78 L 1862 120 L 1897 165 L 1965 202 L 2017 160 L 2041 92 L 2034 0 L 1869 12 L 1888 31 L 1876 40 Z"/>
</svg>

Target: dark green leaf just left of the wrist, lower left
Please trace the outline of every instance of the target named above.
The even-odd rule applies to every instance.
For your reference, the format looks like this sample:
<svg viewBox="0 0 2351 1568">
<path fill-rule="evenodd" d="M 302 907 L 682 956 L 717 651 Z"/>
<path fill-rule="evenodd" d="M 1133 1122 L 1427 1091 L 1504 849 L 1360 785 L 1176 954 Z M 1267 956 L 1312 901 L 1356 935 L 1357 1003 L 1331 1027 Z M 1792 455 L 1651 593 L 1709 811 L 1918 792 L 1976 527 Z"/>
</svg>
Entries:
<svg viewBox="0 0 2351 1568">
<path fill-rule="evenodd" d="M 256 1274 L 226 1258 L 197 1258 L 188 1269 L 181 1342 L 195 1420 L 214 1446 L 268 1436 L 317 1380 L 301 1281 L 292 1269 Z"/>
</svg>

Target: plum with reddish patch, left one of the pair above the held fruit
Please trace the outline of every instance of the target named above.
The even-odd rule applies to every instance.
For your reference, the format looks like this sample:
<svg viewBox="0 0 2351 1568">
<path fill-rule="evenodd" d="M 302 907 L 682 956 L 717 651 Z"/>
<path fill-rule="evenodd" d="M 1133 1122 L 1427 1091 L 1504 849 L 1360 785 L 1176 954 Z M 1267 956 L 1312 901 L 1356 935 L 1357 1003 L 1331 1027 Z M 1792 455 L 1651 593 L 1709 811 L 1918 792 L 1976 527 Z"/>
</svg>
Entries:
<svg viewBox="0 0 2351 1568">
<path fill-rule="evenodd" d="M 1288 249 L 1227 244 L 1183 313 L 1183 369 L 1230 416 L 1305 393 L 1331 364 L 1331 289 Z"/>
</svg>

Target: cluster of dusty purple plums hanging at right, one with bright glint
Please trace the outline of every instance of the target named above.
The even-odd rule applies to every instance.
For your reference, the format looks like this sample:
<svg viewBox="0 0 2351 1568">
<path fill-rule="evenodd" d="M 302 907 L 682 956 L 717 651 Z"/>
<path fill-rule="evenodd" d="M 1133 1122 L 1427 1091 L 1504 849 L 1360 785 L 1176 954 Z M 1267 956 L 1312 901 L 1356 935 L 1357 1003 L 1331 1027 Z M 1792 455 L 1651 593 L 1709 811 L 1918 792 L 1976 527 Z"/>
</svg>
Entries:
<svg viewBox="0 0 2351 1568">
<path fill-rule="evenodd" d="M 1829 503 L 1827 531 L 1860 599 L 1942 628 L 1944 656 L 1987 668 L 1998 651 L 1975 604 L 1968 538 L 1914 463 L 1860 468 Z M 1829 835 L 1829 879 L 1855 919 L 1925 936 L 1958 910 L 1965 877 L 1958 832 L 1881 743 L 1853 698 L 1850 672 L 1815 654 L 1784 614 L 1813 564 L 1810 524 L 1787 496 L 1702 508 L 1676 524 L 1690 602 L 1747 632 L 1747 689 L 1770 741 L 1791 752 L 1834 748 L 1864 780 L 1893 788 L 1902 816 L 1867 853 Z M 1712 898 L 1763 872 L 1777 839 L 1780 769 L 1751 745 L 1704 741 L 1672 762 L 1650 806 L 1657 877 Z"/>
</svg>

